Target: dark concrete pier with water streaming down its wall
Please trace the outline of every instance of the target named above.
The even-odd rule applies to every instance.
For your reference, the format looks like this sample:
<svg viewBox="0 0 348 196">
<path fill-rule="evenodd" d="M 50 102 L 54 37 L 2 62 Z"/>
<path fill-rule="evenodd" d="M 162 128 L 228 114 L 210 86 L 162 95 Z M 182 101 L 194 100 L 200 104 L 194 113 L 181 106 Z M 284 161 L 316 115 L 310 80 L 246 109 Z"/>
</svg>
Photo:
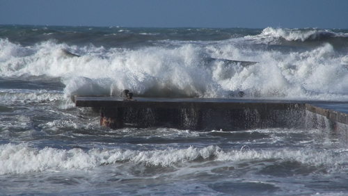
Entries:
<svg viewBox="0 0 348 196">
<path fill-rule="evenodd" d="M 100 124 L 113 129 L 122 126 L 226 131 L 303 128 L 308 124 L 316 126 L 318 119 L 327 121 L 323 123 L 329 124 L 330 129 L 346 129 L 345 124 L 348 124 L 347 113 L 333 111 L 330 107 L 335 103 L 332 102 L 148 97 L 129 101 L 124 97 L 104 96 L 75 96 L 74 101 L 77 107 L 92 107 L 100 111 Z M 348 106 L 348 102 L 336 104 Z M 322 118 L 313 117 L 313 114 Z M 309 116 L 315 119 L 315 123 L 308 122 Z"/>
</svg>

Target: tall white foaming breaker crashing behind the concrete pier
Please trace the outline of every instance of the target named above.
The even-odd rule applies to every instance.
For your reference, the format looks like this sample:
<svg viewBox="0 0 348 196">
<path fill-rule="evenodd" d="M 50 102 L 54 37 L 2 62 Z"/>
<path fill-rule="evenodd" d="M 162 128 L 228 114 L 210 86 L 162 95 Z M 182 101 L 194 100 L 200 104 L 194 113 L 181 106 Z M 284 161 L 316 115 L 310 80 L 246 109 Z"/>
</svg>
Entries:
<svg viewBox="0 0 348 196">
<path fill-rule="evenodd" d="M 1 76 L 61 77 L 67 97 L 118 95 L 129 89 L 135 95 L 157 97 L 233 97 L 242 90 L 246 97 L 348 98 L 347 56 L 335 54 L 330 44 L 288 54 L 241 48 L 229 41 L 133 50 L 78 48 L 52 41 L 22 47 L 0 40 L 0 45 Z M 207 63 L 205 56 L 259 63 Z"/>
</svg>

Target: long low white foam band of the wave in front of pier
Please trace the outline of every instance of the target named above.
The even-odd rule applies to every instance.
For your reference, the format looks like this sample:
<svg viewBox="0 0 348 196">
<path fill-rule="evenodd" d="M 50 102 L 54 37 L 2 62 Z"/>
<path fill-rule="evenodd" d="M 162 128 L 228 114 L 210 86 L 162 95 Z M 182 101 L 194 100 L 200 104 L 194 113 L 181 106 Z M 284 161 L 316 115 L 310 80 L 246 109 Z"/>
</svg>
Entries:
<svg viewBox="0 0 348 196">
<path fill-rule="evenodd" d="M 340 156 L 337 156 L 340 154 Z M 203 148 L 189 147 L 187 149 L 165 149 L 140 151 L 130 149 L 54 149 L 46 147 L 37 149 L 22 143 L 19 145 L 0 146 L 0 174 L 42 172 L 44 170 L 90 170 L 99 165 L 119 162 L 143 163 L 145 165 L 169 165 L 195 161 L 198 158 L 211 158 L 214 161 L 230 161 L 238 164 L 241 161 L 297 161 L 299 163 L 324 166 L 329 169 L 347 169 L 347 152 L 324 151 L 311 149 L 296 150 L 253 150 L 237 149 L 223 151 L 216 146 Z"/>
</svg>

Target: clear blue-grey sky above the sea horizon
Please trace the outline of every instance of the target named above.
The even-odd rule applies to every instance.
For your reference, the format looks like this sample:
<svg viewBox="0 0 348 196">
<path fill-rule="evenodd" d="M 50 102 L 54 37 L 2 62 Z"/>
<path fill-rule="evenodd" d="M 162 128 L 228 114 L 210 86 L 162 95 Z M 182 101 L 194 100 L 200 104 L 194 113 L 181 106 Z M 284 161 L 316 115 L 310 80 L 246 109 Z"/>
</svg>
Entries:
<svg viewBox="0 0 348 196">
<path fill-rule="evenodd" d="M 0 25 L 348 28 L 348 0 L 0 0 Z"/>
</svg>

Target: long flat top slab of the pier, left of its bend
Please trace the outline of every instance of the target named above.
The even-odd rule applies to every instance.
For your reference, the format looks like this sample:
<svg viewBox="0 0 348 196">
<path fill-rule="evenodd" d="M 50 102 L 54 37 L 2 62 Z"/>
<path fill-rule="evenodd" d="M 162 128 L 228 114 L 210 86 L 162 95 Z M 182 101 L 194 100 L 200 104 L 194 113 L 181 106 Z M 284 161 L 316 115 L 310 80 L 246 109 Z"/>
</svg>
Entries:
<svg viewBox="0 0 348 196">
<path fill-rule="evenodd" d="M 124 97 L 75 96 L 77 107 L 118 108 L 200 108 L 200 109 L 246 109 L 269 108 L 286 110 L 304 107 L 304 102 L 259 100 L 259 99 L 204 99 L 204 98 L 148 98 L 137 97 L 126 101 Z"/>
</svg>

